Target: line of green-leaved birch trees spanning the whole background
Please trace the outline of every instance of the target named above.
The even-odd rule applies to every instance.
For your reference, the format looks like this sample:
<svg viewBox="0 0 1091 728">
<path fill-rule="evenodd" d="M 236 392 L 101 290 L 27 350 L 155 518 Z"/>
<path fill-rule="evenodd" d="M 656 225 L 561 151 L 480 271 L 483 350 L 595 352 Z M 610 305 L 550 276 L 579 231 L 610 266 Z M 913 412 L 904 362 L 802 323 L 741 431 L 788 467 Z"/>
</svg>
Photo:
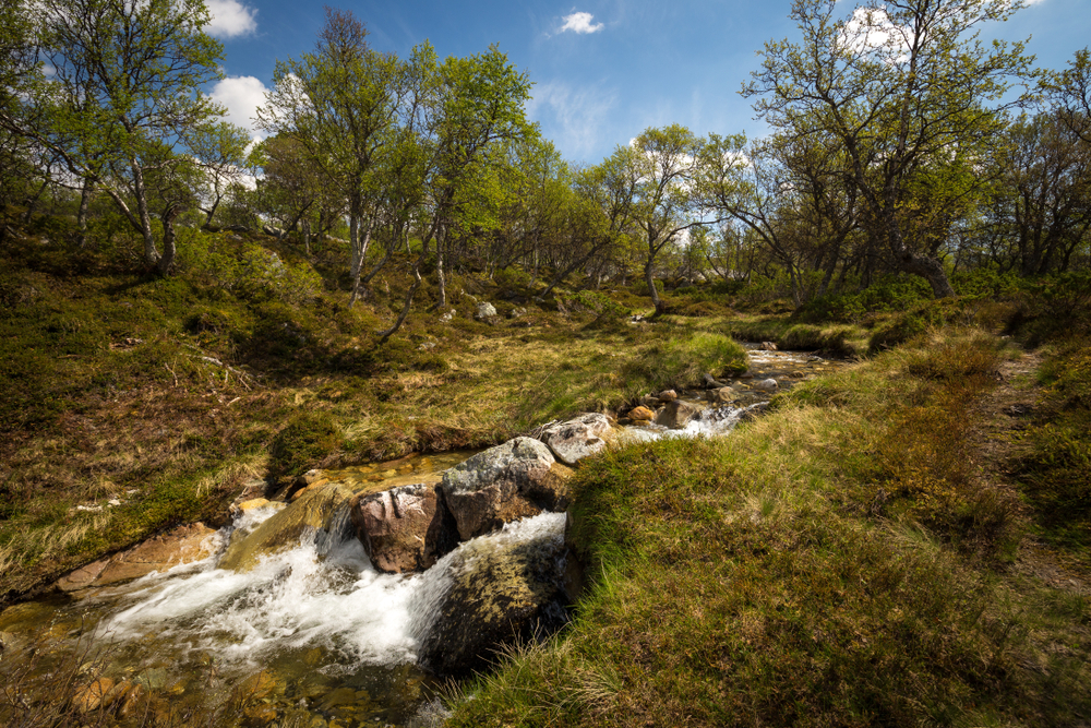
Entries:
<svg viewBox="0 0 1091 728">
<path fill-rule="evenodd" d="M 643 278 L 763 279 L 796 306 L 920 276 L 1041 276 L 1091 266 L 1091 58 L 1032 65 L 976 28 L 1017 0 L 796 0 L 743 86 L 763 139 L 652 128 L 600 164 L 562 158 L 525 116 L 532 84 L 499 49 L 440 60 L 368 43 L 327 10 L 314 48 L 279 62 L 257 112 L 221 121 L 203 93 L 221 45 L 201 0 L 7 2 L 0 17 L 0 192 L 27 220 L 107 201 L 167 275 L 178 228 L 264 229 L 308 252 L 347 239 L 351 301 L 410 262 L 424 277 L 520 266 L 548 294 Z M 252 147 L 252 148 L 251 148 Z M 391 332 L 387 332 L 387 334 Z"/>
</svg>

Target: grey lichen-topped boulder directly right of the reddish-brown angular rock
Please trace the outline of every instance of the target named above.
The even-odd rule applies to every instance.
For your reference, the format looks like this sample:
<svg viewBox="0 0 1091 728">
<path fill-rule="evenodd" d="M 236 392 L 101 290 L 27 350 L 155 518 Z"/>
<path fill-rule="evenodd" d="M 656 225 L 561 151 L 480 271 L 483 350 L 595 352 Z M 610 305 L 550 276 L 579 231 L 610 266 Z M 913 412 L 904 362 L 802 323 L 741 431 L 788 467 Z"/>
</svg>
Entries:
<svg viewBox="0 0 1091 728">
<path fill-rule="evenodd" d="M 473 455 L 443 474 L 443 497 L 468 540 L 509 521 L 564 508 L 556 461 L 532 438 L 515 438 Z"/>
</svg>

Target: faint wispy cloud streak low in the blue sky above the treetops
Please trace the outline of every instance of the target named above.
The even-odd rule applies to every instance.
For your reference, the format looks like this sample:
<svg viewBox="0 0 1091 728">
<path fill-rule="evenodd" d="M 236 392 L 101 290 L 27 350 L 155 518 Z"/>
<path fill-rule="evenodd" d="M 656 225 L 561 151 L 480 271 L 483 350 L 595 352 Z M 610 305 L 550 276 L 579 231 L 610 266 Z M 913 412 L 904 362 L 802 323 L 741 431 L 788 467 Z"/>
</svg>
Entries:
<svg viewBox="0 0 1091 728">
<path fill-rule="evenodd" d="M 616 95 L 599 87 L 573 88 L 561 81 L 535 86 L 527 104 L 527 116 L 541 122 L 566 157 L 582 157 L 592 152 L 607 133 L 610 110 Z"/>
</svg>

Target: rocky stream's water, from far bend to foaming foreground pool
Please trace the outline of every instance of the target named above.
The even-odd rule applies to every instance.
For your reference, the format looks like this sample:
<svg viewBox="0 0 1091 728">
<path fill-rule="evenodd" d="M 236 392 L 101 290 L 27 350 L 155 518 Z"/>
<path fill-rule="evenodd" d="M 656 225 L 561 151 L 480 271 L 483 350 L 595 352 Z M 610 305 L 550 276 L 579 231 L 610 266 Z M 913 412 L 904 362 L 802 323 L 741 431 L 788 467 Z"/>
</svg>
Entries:
<svg viewBox="0 0 1091 728">
<path fill-rule="evenodd" d="M 619 428 L 616 439 L 726 434 L 747 409 L 768 399 L 752 382 L 776 377 L 790 385 L 831 366 L 794 353 L 750 356 L 754 379 L 733 382 L 735 402 L 707 407 L 700 392 L 682 392 L 704 407 L 684 429 Z M 470 454 L 415 456 L 323 475 L 356 492 L 380 490 L 437 481 Z M 232 688 L 256 675 L 265 680 L 253 683 L 255 694 L 269 712 L 251 723 L 260 724 L 264 715 L 311 726 L 409 725 L 434 695 L 434 683 L 415 666 L 416 651 L 449 588 L 451 570 L 500 544 L 561 539 L 564 532 L 564 514 L 542 514 L 460 545 L 424 574 L 383 574 L 352 534 L 346 503 L 324 528 L 261 556 L 253 568 L 218 568 L 228 546 L 278 508 L 239 515 L 209 537 L 214 553 L 203 561 L 120 587 L 87 589 L 77 598 L 16 605 L 0 614 L 0 639 L 17 643 L 20 634 L 38 632 L 46 645 L 41 670 L 56 669 L 65 655 L 94 644 L 104 652 L 83 657 L 100 663 L 101 675 L 165 692 L 199 714 L 230 704 Z"/>
</svg>

